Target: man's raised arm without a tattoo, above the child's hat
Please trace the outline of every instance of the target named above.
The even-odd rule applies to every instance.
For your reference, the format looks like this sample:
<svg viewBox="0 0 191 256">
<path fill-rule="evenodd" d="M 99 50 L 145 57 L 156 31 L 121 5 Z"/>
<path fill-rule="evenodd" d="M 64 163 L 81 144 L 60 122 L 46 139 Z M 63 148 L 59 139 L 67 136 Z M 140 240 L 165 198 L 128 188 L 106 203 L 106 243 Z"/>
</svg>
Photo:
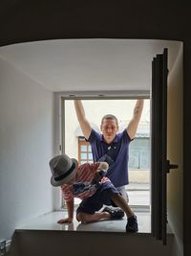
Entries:
<svg viewBox="0 0 191 256">
<path fill-rule="evenodd" d="M 92 127 L 91 127 L 89 121 L 86 119 L 84 107 L 80 100 L 74 100 L 74 108 L 75 108 L 77 120 L 79 122 L 79 126 L 82 129 L 84 137 L 86 139 L 89 139 L 91 131 L 92 131 Z"/>
</svg>

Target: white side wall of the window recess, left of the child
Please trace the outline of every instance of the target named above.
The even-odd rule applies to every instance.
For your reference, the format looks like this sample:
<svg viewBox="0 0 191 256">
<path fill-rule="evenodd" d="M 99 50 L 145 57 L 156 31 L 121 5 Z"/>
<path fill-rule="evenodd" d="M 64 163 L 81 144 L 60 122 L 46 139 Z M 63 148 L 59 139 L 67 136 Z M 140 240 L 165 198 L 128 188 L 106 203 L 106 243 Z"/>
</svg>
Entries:
<svg viewBox="0 0 191 256">
<path fill-rule="evenodd" d="M 53 209 L 53 92 L 0 58 L 0 239 Z"/>
</svg>

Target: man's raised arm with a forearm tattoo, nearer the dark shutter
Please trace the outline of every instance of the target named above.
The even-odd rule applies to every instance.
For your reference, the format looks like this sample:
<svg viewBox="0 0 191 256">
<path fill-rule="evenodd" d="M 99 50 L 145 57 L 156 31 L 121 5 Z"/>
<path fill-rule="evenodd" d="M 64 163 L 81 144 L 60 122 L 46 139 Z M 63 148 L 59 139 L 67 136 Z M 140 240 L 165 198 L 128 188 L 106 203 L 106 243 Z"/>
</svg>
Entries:
<svg viewBox="0 0 191 256">
<path fill-rule="evenodd" d="M 136 136 L 143 105 L 144 105 L 144 100 L 140 99 L 137 101 L 136 106 L 134 108 L 133 118 L 131 119 L 131 121 L 129 122 L 129 125 L 127 126 L 127 132 L 131 139 L 133 139 Z"/>
</svg>

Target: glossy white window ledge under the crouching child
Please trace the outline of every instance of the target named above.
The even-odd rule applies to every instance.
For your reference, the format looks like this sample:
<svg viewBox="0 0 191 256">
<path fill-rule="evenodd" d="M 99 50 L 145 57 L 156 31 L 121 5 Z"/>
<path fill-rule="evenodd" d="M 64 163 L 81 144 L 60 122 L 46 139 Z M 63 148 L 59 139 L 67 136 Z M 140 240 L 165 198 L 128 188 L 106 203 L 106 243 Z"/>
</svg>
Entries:
<svg viewBox="0 0 191 256">
<path fill-rule="evenodd" d="M 24 230 L 74 230 L 74 231 L 103 231 L 103 232 L 125 232 L 126 218 L 117 221 L 97 221 L 82 224 L 74 219 L 74 223 L 58 224 L 57 221 L 67 215 L 66 211 L 55 211 L 40 216 L 28 223 L 19 226 L 17 229 Z M 151 232 L 150 212 L 136 212 L 138 217 L 138 232 Z"/>
</svg>

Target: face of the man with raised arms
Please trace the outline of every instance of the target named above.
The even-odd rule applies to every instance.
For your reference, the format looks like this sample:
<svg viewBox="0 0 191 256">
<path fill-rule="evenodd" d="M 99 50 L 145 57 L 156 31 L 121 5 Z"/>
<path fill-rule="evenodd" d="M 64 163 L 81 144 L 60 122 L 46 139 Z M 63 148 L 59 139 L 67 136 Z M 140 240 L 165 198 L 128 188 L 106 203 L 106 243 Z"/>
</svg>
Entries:
<svg viewBox="0 0 191 256">
<path fill-rule="evenodd" d="M 104 119 L 100 128 L 105 142 L 112 143 L 117 135 L 117 121 L 115 119 Z"/>
</svg>

